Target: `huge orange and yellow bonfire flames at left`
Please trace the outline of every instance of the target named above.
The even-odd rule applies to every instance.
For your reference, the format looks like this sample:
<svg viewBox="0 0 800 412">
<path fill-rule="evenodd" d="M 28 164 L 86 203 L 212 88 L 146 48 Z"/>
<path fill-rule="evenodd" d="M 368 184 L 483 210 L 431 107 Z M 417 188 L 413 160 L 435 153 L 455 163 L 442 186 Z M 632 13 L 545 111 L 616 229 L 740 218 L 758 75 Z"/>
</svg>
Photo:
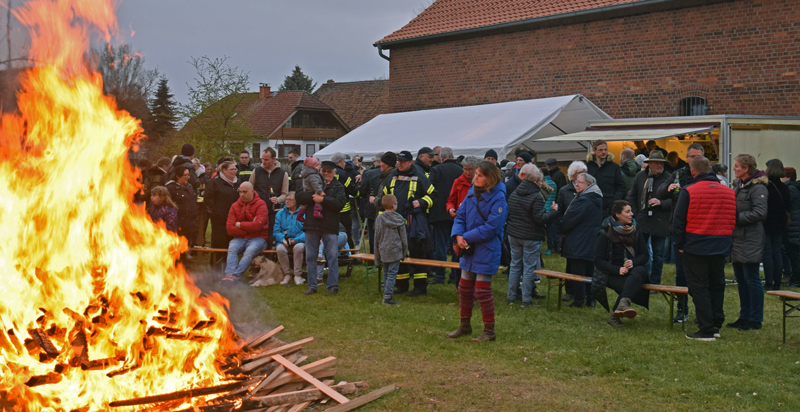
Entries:
<svg viewBox="0 0 800 412">
<path fill-rule="evenodd" d="M 186 242 L 131 202 L 127 153 L 142 130 L 84 61 L 86 27 L 109 38 L 113 5 L 37 0 L 17 17 L 37 67 L 0 123 L 0 390 L 16 410 L 107 410 L 217 383 L 215 360 L 234 346 L 227 302 L 200 296 L 175 265 Z M 25 344 L 34 329 L 58 356 Z M 26 385 L 48 374 L 56 383 Z"/>
</svg>

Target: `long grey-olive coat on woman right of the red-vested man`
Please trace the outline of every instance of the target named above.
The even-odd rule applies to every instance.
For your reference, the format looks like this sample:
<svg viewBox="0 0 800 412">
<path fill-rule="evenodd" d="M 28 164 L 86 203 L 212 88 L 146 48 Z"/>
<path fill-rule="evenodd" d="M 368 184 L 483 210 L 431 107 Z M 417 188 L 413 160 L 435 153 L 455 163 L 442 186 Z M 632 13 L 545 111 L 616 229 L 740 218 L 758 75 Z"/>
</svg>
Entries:
<svg viewBox="0 0 800 412">
<path fill-rule="evenodd" d="M 766 235 L 761 222 L 767 218 L 767 182 L 766 176 L 754 177 L 745 184 L 740 179 L 733 182 L 739 212 L 739 220 L 733 229 L 733 263 L 759 263 L 763 260 Z"/>
</svg>

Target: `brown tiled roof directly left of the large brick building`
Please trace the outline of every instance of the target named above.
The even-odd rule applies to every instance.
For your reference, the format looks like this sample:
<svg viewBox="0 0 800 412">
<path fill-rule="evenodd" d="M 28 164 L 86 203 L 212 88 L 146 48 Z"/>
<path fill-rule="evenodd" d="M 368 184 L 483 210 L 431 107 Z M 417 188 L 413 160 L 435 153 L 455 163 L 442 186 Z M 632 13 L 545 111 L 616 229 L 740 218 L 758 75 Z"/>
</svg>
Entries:
<svg viewBox="0 0 800 412">
<path fill-rule="evenodd" d="M 361 126 L 379 114 L 389 112 L 389 80 L 328 80 L 314 95 L 336 110 L 336 114 L 350 129 Z"/>
</svg>

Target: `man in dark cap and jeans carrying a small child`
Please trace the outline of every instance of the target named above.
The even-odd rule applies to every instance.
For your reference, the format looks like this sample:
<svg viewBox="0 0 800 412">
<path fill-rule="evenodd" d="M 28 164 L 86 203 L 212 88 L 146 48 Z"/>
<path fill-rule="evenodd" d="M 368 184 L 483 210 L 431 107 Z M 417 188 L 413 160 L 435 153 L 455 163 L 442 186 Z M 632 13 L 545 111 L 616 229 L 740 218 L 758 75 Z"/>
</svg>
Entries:
<svg viewBox="0 0 800 412">
<path fill-rule="evenodd" d="M 307 208 L 313 208 L 315 203 L 322 204 L 322 219 L 306 219 L 303 224 L 308 270 L 306 295 L 317 293 L 317 254 L 313 251 L 319 250 L 320 241 L 325 249 L 325 259 L 328 261 L 328 293 L 339 292 L 339 211 L 344 207 L 347 195 L 344 193 L 344 186 L 335 178 L 336 163 L 328 160 L 322 162 L 320 174 L 325 180 L 325 196 L 305 191 L 295 194 L 297 203 L 306 205 Z"/>
</svg>

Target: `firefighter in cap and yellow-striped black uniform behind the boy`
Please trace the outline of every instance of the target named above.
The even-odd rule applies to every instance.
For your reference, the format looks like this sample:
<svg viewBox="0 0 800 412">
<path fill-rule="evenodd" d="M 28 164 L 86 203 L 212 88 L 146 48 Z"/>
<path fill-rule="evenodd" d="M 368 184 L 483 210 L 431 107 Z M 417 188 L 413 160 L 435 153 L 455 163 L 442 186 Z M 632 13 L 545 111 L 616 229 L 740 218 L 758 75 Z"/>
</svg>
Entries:
<svg viewBox="0 0 800 412">
<path fill-rule="evenodd" d="M 383 195 L 392 194 L 397 197 L 397 212 L 401 216 L 407 216 L 410 210 L 406 210 L 406 204 L 410 204 L 424 210 L 427 215 L 430 212 L 433 202 L 436 200 L 436 188 L 425 176 L 425 172 L 416 167 L 414 157 L 407 150 L 403 150 L 397 155 L 397 169 L 389 173 L 381 183 L 381 189 L 375 198 L 375 207 L 381 209 L 381 199 Z M 427 245 L 431 246 L 431 245 Z M 432 253 L 426 248 L 425 242 L 408 243 L 409 257 L 419 259 L 430 259 Z M 408 292 L 409 297 L 425 296 L 428 294 L 428 271 L 427 266 L 400 265 L 395 283 L 395 293 L 408 292 L 409 279 L 414 279 L 414 289 Z"/>
</svg>

